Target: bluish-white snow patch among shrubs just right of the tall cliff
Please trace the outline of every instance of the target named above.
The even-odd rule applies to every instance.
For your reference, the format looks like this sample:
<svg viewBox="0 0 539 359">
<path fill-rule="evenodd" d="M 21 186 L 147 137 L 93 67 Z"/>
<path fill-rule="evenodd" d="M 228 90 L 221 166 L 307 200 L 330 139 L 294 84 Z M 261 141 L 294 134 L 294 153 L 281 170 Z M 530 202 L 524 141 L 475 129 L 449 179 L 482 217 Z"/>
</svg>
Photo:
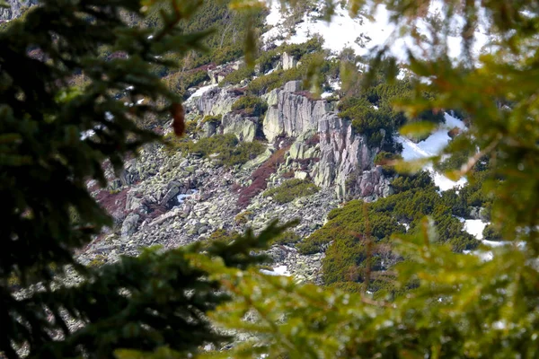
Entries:
<svg viewBox="0 0 539 359">
<path fill-rule="evenodd" d="M 465 129 L 464 123 L 460 119 L 454 118 L 447 113 L 445 114 L 445 118 L 445 124 L 441 124 L 437 131 L 417 144 L 404 136 L 397 137 L 396 140 L 402 144 L 401 154 L 404 161 L 420 160 L 421 158 L 437 155 L 444 149 L 444 147 L 446 147 L 449 141 L 451 141 L 451 137 L 447 135 L 447 132 L 450 129 L 454 127 Z M 443 191 L 457 186 L 462 187 L 466 183 L 466 179 L 464 178 L 456 182 L 454 180 L 449 180 L 443 174 L 435 171 L 434 168 L 432 168 L 432 164 L 426 165 L 424 169 L 431 173 L 434 183 Z"/>
</svg>

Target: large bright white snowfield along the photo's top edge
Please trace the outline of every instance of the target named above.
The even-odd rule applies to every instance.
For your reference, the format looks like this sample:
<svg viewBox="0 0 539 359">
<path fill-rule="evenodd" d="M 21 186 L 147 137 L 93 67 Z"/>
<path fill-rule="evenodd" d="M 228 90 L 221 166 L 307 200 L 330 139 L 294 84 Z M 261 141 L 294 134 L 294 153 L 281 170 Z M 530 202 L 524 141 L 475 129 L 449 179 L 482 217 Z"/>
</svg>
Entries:
<svg viewBox="0 0 539 359">
<path fill-rule="evenodd" d="M 380 5 L 376 8 L 372 21 L 362 16 L 351 18 L 348 9 L 337 6 L 331 22 L 321 19 L 323 8 L 319 7 L 314 12 L 305 13 L 303 22 L 296 24 L 293 34 L 289 34 L 284 26 L 287 12 L 281 13 L 280 6 L 277 0 L 270 1 L 270 13 L 266 18 L 266 23 L 273 27 L 262 35 L 262 39 L 266 42 L 280 45 L 286 40 L 288 43 L 300 44 L 312 39 L 315 34 L 320 34 L 325 39 L 323 47 L 334 53 L 340 53 L 343 48 L 352 48 L 357 55 L 365 56 L 371 53 L 373 48 L 387 45 L 391 53 L 403 62 L 408 59 L 406 48 L 411 48 L 414 55 L 420 57 L 421 49 L 413 44 L 410 36 L 397 36 L 399 31 L 389 21 L 391 13 L 384 6 Z M 434 15 L 439 12 L 441 6 L 441 2 L 435 2 L 430 6 L 429 14 Z M 463 24 L 464 19 L 456 18 L 452 26 L 456 30 Z M 429 27 L 426 22 L 419 22 L 417 29 L 421 34 L 429 37 Z M 473 44 L 475 54 L 479 54 L 488 41 L 484 32 L 482 27 L 475 32 L 476 41 Z M 462 39 L 458 36 L 449 37 L 448 47 L 449 56 L 458 57 L 462 53 Z"/>
</svg>

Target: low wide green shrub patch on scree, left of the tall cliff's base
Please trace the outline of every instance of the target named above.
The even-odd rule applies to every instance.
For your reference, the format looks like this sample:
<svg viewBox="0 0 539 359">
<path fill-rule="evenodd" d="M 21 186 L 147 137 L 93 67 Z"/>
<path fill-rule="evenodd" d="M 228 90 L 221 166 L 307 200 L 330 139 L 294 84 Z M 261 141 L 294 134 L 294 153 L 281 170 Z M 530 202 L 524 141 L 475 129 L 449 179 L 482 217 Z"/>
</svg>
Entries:
<svg viewBox="0 0 539 359">
<path fill-rule="evenodd" d="M 184 153 L 199 153 L 208 158 L 210 154 L 219 153 L 216 159 L 225 166 L 234 166 L 252 160 L 265 150 L 259 141 L 240 142 L 233 134 L 216 135 L 200 138 L 199 141 L 181 142 L 178 150 Z"/>
</svg>

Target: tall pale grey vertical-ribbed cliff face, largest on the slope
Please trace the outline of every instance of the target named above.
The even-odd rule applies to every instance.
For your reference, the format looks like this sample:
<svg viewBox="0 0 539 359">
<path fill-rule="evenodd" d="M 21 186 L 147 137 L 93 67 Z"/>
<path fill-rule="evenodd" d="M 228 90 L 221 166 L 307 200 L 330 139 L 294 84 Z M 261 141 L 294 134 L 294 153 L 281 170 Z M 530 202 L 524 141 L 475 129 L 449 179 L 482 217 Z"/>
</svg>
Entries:
<svg viewBox="0 0 539 359">
<path fill-rule="evenodd" d="M 339 118 L 324 100 L 311 100 L 300 92 L 301 82 L 285 84 L 265 96 L 270 105 L 263 122 L 268 141 L 278 136 L 296 137 L 290 148 L 292 160 L 314 159 L 310 176 L 318 186 L 336 186 L 339 197 L 374 199 L 387 196 L 391 189 L 374 165 L 377 148 L 356 134 L 349 121 Z M 317 133 L 318 144 L 308 144 L 305 134 Z"/>
</svg>

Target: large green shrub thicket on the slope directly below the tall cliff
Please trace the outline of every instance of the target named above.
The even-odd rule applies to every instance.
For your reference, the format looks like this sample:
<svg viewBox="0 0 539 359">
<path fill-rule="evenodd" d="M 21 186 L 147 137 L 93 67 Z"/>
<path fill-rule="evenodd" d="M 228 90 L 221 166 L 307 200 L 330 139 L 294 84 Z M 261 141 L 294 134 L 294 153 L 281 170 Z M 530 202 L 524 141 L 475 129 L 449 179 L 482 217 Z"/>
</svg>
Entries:
<svg viewBox="0 0 539 359">
<path fill-rule="evenodd" d="M 385 155 L 382 154 L 382 157 Z M 468 203 L 454 191 L 440 196 L 428 172 L 400 176 L 393 180 L 392 185 L 396 192 L 393 196 L 380 198 L 371 204 L 352 200 L 345 206 L 333 209 L 322 228 L 296 245 L 303 254 L 315 253 L 327 247 L 323 259 L 326 284 L 361 282 L 364 279 L 364 260 L 367 258 L 364 238 L 367 235 L 374 243 L 371 270 L 387 269 L 387 264 L 383 265 L 381 258 L 391 253 L 391 236 L 395 233 L 420 232 L 421 220 L 426 215 L 436 224 L 438 241 L 448 243 L 456 252 L 473 250 L 478 246 L 479 241 L 464 232 L 464 224 L 455 218 L 454 206 L 462 211 L 469 206 Z M 406 231 L 402 223 L 409 223 L 410 229 Z M 384 289 L 394 292 L 391 285 L 384 286 Z M 376 288 L 369 286 L 369 290 Z"/>
</svg>

